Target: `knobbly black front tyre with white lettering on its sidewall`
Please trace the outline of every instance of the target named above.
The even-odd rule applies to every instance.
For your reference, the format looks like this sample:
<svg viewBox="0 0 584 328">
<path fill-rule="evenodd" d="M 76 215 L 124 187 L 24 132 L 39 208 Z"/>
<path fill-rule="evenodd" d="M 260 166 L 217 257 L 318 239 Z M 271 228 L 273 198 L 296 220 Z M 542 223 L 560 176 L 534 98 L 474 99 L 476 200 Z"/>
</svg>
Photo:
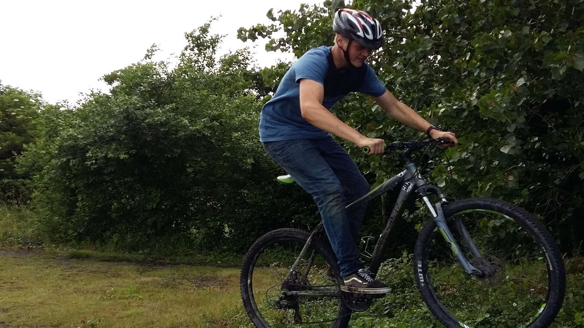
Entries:
<svg viewBox="0 0 584 328">
<path fill-rule="evenodd" d="M 564 268 L 564 262 L 562 261 L 562 257 L 561 254 L 559 252 L 557 243 L 555 243 L 555 240 L 552 238 L 550 232 L 548 232 L 547 228 L 545 228 L 545 226 L 543 224 L 541 224 L 540 221 L 537 221 L 537 219 L 535 217 L 533 217 L 533 215 L 529 214 L 529 212 L 523 210 L 522 208 L 517 207 L 516 205 L 513 204 L 509 204 L 505 201 L 501 201 L 501 200 L 495 200 L 492 198 L 469 198 L 466 200 L 461 200 L 461 201 L 456 201 L 454 203 L 451 203 L 449 205 L 447 205 L 446 207 L 444 207 L 444 217 L 446 218 L 447 223 L 449 224 L 449 227 L 451 229 L 451 231 L 454 232 L 455 228 L 453 228 L 453 224 L 452 224 L 452 219 L 454 217 L 458 217 L 460 215 L 463 214 L 467 214 L 467 213 L 471 213 L 473 215 L 475 215 L 475 217 L 478 217 L 477 213 L 479 212 L 488 212 L 488 213 L 498 213 L 500 215 L 502 215 L 504 218 L 510 218 L 513 221 L 515 221 L 515 223 L 517 225 L 519 225 L 519 229 L 517 229 L 517 231 L 520 231 L 521 235 L 529 235 L 533 241 L 535 242 L 536 246 L 540 246 L 541 249 L 543 249 L 543 252 L 545 254 L 545 256 L 541 256 L 541 257 L 537 257 L 537 259 L 540 259 L 541 262 L 543 264 L 539 264 L 541 267 L 541 272 L 545 272 L 547 271 L 547 282 L 548 282 L 548 287 L 547 289 L 541 289 L 541 295 L 538 295 L 540 297 L 543 297 L 543 295 L 545 294 L 545 302 L 543 303 L 543 305 L 540 306 L 540 309 L 531 309 L 533 311 L 533 315 L 530 315 L 529 320 L 527 320 L 526 322 L 517 324 L 517 327 L 522 327 L 522 328 L 544 328 L 544 327 L 548 327 L 553 320 L 555 319 L 555 317 L 557 316 L 559 309 L 561 308 L 563 299 L 564 299 L 564 293 L 565 293 L 565 268 Z M 484 215 L 484 214 L 482 214 Z M 488 215 L 492 215 L 492 214 L 488 214 Z M 500 222 L 495 222 L 495 223 L 499 223 Z M 512 224 L 512 222 L 507 222 L 508 224 Z M 478 226 L 478 224 L 477 224 Z M 493 225 L 495 226 L 495 225 Z M 454 313 L 451 312 L 451 310 L 449 310 L 449 307 L 445 306 L 444 303 L 441 301 L 440 296 L 437 295 L 437 289 L 434 288 L 433 286 L 433 281 L 432 281 L 432 277 L 429 274 L 429 252 L 430 252 L 430 247 L 431 244 L 433 245 L 433 243 L 438 243 L 437 240 L 439 240 L 440 238 L 442 238 L 442 236 L 439 236 L 438 233 L 436 233 L 436 223 L 434 222 L 434 220 L 430 220 L 429 222 L 427 222 L 427 224 L 424 226 L 424 228 L 422 229 L 422 231 L 420 232 L 420 235 L 418 237 L 418 241 L 416 242 L 416 247 L 415 247 L 415 254 L 414 254 L 414 276 L 415 276 L 415 280 L 416 280 L 416 284 L 418 285 L 418 289 L 420 291 L 420 294 L 422 295 L 422 298 L 424 300 L 424 302 L 426 303 L 426 305 L 428 306 L 428 308 L 430 309 L 430 311 L 433 313 L 434 316 L 436 316 L 436 318 L 442 322 L 444 324 L 444 326 L 449 327 L 449 328 L 454 328 L 454 327 L 489 327 L 491 325 L 486 324 L 486 325 L 481 325 L 480 324 L 480 320 L 484 320 L 480 319 L 478 320 L 479 323 L 466 323 L 463 322 L 463 320 L 461 320 L 459 317 L 457 317 L 457 315 L 455 315 Z M 438 237 L 436 238 L 436 235 L 438 235 Z M 472 233 L 471 233 L 472 235 Z M 478 235 L 478 233 L 477 233 Z M 434 239 L 436 238 L 436 239 Z M 483 238 L 478 237 L 478 238 Z M 475 239 L 475 237 L 472 238 L 473 240 Z M 496 238 L 495 238 L 496 239 Z M 432 241 L 434 240 L 434 241 Z M 485 240 L 486 237 L 485 237 Z M 523 239 L 522 239 L 523 240 Z M 461 245 L 461 238 L 457 238 L 457 242 L 459 243 L 459 245 L 461 247 L 463 247 L 464 245 Z M 498 245 L 495 247 L 500 247 L 500 249 L 503 249 L 504 247 Z M 508 248 L 508 247 L 507 247 Z M 464 252 L 464 250 L 463 250 Z M 515 249 L 516 253 L 519 253 L 519 250 Z M 540 251 L 541 252 L 541 251 Z M 468 258 L 468 257 L 467 257 Z M 500 260 L 498 260 L 500 261 Z M 438 262 L 438 261 L 436 261 Z M 460 264 L 456 263 L 458 265 L 458 267 L 460 267 Z M 436 271 L 433 271 L 433 274 L 436 277 L 440 277 L 440 263 L 438 264 L 433 264 L 434 266 L 436 266 Z M 450 265 L 450 264 L 449 264 Z M 452 264 L 454 266 L 454 264 Z M 462 270 L 462 268 L 460 267 L 460 270 Z M 527 268 L 524 270 L 528 270 Z M 505 270 L 501 270 L 503 273 L 505 273 Z M 507 270 L 508 272 L 506 274 L 513 274 L 512 270 Z M 464 271 L 463 271 L 464 274 Z M 497 273 L 495 273 L 497 274 Z M 543 275 L 543 274 L 542 274 Z M 503 274 L 503 276 L 505 276 L 505 274 Z M 468 277 L 468 276 L 467 276 Z M 452 278 L 447 278 L 447 279 L 451 279 Z M 507 275 L 507 277 L 502 277 L 499 278 L 502 281 L 505 281 L 505 279 L 509 279 L 509 275 Z M 472 280 L 472 278 L 469 278 L 468 281 Z M 542 280 L 544 280 L 544 278 L 542 278 Z M 517 280 L 516 280 L 517 281 Z M 478 280 L 477 280 L 478 282 Z M 476 283 L 476 282 L 475 282 Z M 501 285 L 503 286 L 505 283 L 501 283 Z M 520 282 L 517 282 L 515 285 L 519 285 Z M 507 286 L 507 285 L 504 285 Z M 446 285 L 443 285 L 443 287 L 446 287 Z M 485 289 L 488 287 L 484 287 Z M 518 289 L 520 287 L 517 287 Z M 530 291 L 533 291 L 534 289 L 529 289 Z M 466 291 L 466 289 L 465 289 Z M 440 291 L 438 291 L 440 292 Z M 450 292 L 452 293 L 452 292 Z M 442 293 L 442 295 L 445 295 L 446 292 Z M 456 292 L 455 292 L 456 294 Z M 496 293 L 495 293 L 496 295 Z M 447 297 L 444 297 L 445 299 Z M 494 299 L 497 299 L 496 297 Z M 505 300 L 505 298 L 500 298 Z M 499 302 L 499 301 L 497 301 Z M 503 301 L 501 301 L 503 302 Z M 516 302 L 523 302 L 523 299 L 516 299 Z M 448 303 L 448 301 L 447 301 Z M 517 306 L 517 303 L 513 302 L 512 304 L 515 304 L 515 306 Z M 527 301 L 526 301 L 527 303 Z M 451 305 L 451 303 L 449 303 L 449 305 Z M 451 305 L 453 306 L 453 305 Z M 499 305 L 499 307 L 501 307 L 501 305 Z M 519 311 L 519 310 L 517 310 Z M 498 313 L 505 313 L 505 312 L 498 312 Z M 458 316 L 461 316 L 461 313 L 458 312 Z M 503 318 L 503 314 L 501 315 L 501 317 Z M 486 318 L 486 316 L 485 316 Z M 492 318 L 488 318 L 489 320 L 491 320 Z M 523 319 L 523 318 L 522 318 Z M 495 319 L 492 319 L 495 320 Z M 523 319 L 526 320 L 526 319 Z M 505 326 L 506 327 L 506 326 Z M 515 327 L 515 326 L 514 326 Z"/>
</svg>

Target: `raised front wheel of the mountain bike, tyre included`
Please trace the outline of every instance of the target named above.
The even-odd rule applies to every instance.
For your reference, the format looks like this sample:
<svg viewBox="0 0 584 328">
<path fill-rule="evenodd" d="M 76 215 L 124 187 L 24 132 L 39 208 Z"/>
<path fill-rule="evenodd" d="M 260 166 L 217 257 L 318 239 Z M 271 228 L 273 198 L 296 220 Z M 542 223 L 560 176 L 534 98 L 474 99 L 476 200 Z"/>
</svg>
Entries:
<svg viewBox="0 0 584 328">
<path fill-rule="evenodd" d="M 548 327 L 564 299 L 565 270 L 545 226 L 521 208 L 491 198 L 456 201 L 443 210 L 465 257 L 481 274 L 464 272 L 429 221 L 416 243 L 414 275 L 434 316 L 449 328 Z M 481 256 L 471 253 L 460 223 Z"/>
</svg>

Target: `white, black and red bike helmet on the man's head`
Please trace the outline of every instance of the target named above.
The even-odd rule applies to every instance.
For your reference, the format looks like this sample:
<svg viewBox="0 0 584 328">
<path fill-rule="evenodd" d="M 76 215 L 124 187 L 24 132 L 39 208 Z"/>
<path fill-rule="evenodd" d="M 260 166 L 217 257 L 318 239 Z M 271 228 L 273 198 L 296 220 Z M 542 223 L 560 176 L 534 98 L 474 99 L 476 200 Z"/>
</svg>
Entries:
<svg viewBox="0 0 584 328">
<path fill-rule="evenodd" d="M 383 46 L 383 30 L 377 19 L 369 13 L 355 9 L 340 9 L 335 13 L 332 29 L 361 46 L 378 49 Z"/>
</svg>

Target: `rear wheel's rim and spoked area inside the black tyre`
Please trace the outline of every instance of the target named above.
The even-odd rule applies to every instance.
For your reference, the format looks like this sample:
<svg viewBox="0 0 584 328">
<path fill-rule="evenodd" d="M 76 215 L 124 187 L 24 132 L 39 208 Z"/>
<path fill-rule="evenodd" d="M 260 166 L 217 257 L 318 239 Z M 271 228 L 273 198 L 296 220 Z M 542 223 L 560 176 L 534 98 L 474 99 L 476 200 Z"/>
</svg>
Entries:
<svg viewBox="0 0 584 328">
<path fill-rule="evenodd" d="M 283 281 L 300 254 L 305 240 L 294 238 L 279 239 L 267 243 L 256 253 L 248 274 L 248 291 L 258 320 L 265 327 L 305 327 L 295 323 L 295 314 L 301 313 L 303 322 L 332 320 L 340 315 L 340 299 L 324 296 L 284 296 L 281 292 Z M 314 253 L 307 277 L 304 272 Z M 300 266 L 293 274 L 293 281 L 286 284 L 288 290 L 306 290 L 303 286 L 330 288 L 338 291 L 338 286 L 326 278 L 329 265 L 324 256 L 310 247 Z M 295 303 L 297 308 L 295 309 Z M 320 323 L 318 327 L 330 327 L 335 321 Z"/>
</svg>

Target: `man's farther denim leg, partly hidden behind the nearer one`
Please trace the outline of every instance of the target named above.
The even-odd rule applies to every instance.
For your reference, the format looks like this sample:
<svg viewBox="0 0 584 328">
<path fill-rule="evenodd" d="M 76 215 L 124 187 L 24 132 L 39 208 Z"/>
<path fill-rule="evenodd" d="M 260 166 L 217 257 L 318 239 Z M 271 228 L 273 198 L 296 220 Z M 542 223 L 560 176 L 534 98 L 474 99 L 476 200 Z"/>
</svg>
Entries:
<svg viewBox="0 0 584 328">
<path fill-rule="evenodd" d="M 349 154 L 333 138 L 317 139 L 321 154 L 331 166 L 333 172 L 340 180 L 345 193 L 346 205 L 358 200 L 364 194 L 369 193 L 371 186 L 361 174 L 359 168 Z M 363 203 L 347 211 L 347 219 L 353 233 L 353 238 L 359 245 L 359 231 L 363 224 L 363 216 L 367 204 Z"/>
</svg>

